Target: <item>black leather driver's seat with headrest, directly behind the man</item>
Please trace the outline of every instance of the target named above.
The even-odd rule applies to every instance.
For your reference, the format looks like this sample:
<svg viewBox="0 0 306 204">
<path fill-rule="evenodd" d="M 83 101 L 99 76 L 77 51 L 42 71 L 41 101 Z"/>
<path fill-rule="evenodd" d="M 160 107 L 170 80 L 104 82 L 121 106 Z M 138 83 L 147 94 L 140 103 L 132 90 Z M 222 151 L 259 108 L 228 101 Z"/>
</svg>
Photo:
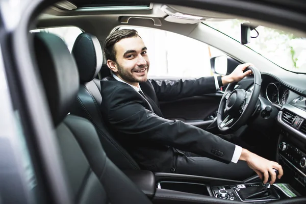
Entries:
<svg viewBox="0 0 306 204">
<path fill-rule="evenodd" d="M 80 88 L 70 113 L 89 119 L 95 126 L 107 156 L 120 169 L 140 169 L 127 151 L 112 137 L 100 112 L 102 101 L 100 80 L 95 79 L 103 63 L 103 53 L 98 39 L 81 33 L 75 40 L 72 54 L 80 73 Z"/>
</svg>

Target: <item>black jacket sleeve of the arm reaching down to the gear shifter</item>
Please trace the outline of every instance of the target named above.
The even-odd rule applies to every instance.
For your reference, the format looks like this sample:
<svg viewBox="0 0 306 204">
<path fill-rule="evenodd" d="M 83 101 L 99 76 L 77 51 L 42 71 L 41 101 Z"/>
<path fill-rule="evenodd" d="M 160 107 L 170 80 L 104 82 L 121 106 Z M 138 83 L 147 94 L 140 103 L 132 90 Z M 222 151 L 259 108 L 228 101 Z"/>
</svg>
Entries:
<svg viewBox="0 0 306 204">
<path fill-rule="evenodd" d="M 157 116 L 143 107 L 142 97 L 131 88 L 116 87 L 104 100 L 109 123 L 120 133 L 224 163 L 232 160 L 234 144 L 180 120 Z"/>
</svg>

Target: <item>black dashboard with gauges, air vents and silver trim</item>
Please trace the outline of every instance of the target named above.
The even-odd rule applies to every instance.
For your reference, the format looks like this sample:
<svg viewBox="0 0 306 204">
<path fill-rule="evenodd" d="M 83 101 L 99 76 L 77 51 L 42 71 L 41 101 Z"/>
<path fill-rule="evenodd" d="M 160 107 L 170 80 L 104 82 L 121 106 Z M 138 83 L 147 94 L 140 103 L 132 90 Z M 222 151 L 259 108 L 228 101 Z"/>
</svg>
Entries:
<svg viewBox="0 0 306 204">
<path fill-rule="evenodd" d="M 296 80 L 293 87 L 271 74 L 262 74 L 260 96 L 278 109 L 277 161 L 283 166 L 289 182 L 297 189 L 306 188 L 306 95 L 305 81 Z M 294 180 L 292 180 L 294 178 Z"/>
</svg>

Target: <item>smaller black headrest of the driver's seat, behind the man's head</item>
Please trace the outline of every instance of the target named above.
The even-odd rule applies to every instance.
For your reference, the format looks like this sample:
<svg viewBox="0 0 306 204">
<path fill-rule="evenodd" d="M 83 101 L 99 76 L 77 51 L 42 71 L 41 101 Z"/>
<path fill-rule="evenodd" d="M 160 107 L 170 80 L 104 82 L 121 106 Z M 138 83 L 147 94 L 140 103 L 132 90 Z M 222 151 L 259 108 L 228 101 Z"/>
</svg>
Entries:
<svg viewBox="0 0 306 204">
<path fill-rule="evenodd" d="M 81 33 L 73 44 L 72 54 L 78 65 L 80 81 L 92 81 L 103 63 L 103 52 L 99 40 L 89 33 Z"/>
</svg>

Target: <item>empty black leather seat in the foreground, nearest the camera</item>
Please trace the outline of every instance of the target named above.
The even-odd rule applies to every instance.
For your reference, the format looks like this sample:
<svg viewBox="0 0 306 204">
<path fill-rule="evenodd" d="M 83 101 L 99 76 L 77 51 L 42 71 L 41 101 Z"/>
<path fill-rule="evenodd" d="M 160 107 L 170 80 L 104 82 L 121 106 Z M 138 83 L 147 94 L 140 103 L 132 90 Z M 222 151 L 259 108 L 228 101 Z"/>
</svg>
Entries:
<svg viewBox="0 0 306 204">
<path fill-rule="evenodd" d="M 36 33 L 34 48 L 73 203 L 151 203 L 108 159 L 92 123 L 67 115 L 79 90 L 79 73 L 65 43 Z"/>
</svg>

